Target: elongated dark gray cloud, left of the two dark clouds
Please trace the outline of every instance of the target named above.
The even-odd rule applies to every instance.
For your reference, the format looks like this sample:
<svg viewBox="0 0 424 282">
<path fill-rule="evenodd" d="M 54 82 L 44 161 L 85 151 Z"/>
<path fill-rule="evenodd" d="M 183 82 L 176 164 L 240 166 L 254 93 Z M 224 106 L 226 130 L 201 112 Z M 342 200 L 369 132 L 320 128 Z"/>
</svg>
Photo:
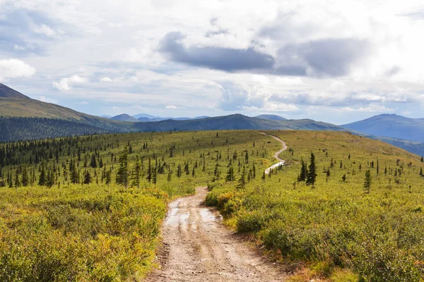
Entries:
<svg viewBox="0 0 424 282">
<path fill-rule="evenodd" d="M 180 32 L 168 33 L 160 42 L 160 51 L 170 56 L 172 61 L 191 66 L 202 66 L 220 71 L 253 71 L 273 68 L 272 56 L 260 53 L 253 48 L 229 49 L 220 47 L 184 47 Z"/>
</svg>

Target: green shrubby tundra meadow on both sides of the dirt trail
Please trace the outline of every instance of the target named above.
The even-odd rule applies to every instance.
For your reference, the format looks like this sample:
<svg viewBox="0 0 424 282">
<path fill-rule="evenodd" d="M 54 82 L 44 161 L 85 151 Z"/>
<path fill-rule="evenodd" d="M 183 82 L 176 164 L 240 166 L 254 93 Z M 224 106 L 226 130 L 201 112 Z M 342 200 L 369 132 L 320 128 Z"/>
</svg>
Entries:
<svg viewBox="0 0 424 282">
<path fill-rule="evenodd" d="M 0 144 L 0 281 L 139 281 L 167 203 L 200 185 L 290 281 L 423 281 L 421 157 L 350 133 L 266 133 L 288 146 L 269 175 L 281 144 L 253 130 Z"/>
</svg>

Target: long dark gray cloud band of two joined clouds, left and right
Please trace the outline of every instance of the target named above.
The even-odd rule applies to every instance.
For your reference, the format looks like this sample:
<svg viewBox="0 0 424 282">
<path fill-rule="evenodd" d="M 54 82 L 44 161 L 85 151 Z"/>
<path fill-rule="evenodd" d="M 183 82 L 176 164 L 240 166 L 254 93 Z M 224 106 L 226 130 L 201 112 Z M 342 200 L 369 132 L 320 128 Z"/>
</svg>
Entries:
<svg viewBox="0 0 424 282">
<path fill-rule="evenodd" d="M 172 61 L 220 71 L 251 71 L 275 75 L 337 77 L 347 75 L 353 63 L 367 53 L 367 42 L 359 39 L 320 39 L 287 44 L 274 59 L 253 47 L 184 47 L 180 32 L 170 32 L 160 42 L 160 51 Z"/>
</svg>

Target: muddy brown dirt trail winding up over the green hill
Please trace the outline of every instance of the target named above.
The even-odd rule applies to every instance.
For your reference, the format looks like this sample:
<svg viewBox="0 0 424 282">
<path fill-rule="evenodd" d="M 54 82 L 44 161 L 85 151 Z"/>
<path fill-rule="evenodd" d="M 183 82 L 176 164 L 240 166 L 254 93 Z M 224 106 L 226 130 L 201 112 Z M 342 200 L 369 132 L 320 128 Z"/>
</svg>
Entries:
<svg viewBox="0 0 424 282">
<path fill-rule="evenodd" d="M 283 149 L 274 157 L 286 148 L 281 144 Z M 158 255 L 160 269 L 145 281 L 284 281 L 287 275 L 275 263 L 245 237 L 225 228 L 217 209 L 205 206 L 207 193 L 206 187 L 198 187 L 196 195 L 170 203 Z"/>
</svg>

